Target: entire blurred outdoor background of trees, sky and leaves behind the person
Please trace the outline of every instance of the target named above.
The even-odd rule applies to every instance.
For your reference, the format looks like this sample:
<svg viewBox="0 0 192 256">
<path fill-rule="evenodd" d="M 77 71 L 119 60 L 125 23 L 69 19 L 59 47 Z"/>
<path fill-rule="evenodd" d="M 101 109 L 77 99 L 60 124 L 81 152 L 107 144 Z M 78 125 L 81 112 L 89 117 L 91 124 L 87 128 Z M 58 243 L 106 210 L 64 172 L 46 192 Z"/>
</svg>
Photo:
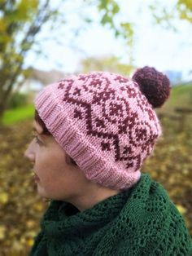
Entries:
<svg viewBox="0 0 192 256">
<path fill-rule="evenodd" d="M 27 255 L 48 202 L 24 150 L 33 99 L 51 82 L 153 66 L 172 83 L 156 110 L 163 135 L 142 170 L 167 189 L 192 234 L 192 2 L 0 1 L 0 255 Z"/>
</svg>

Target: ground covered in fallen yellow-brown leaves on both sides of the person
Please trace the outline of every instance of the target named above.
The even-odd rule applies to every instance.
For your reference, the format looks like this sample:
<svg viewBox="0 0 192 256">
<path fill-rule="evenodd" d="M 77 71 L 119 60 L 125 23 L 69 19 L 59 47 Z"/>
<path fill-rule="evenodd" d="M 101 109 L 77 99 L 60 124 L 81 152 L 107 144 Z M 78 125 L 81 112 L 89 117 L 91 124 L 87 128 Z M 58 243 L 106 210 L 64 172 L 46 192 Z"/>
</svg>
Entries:
<svg viewBox="0 0 192 256">
<path fill-rule="evenodd" d="M 191 155 L 192 121 L 187 130 L 176 133 L 174 124 L 164 122 L 164 135 L 155 153 L 143 166 L 143 172 L 162 183 L 168 195 L 183 214 L 192 234 Z M 32 163 L 23 157 L 30 141 L 32 121 L 25 121 L 0 132 L 0 255 L 25 256 L 40 231 L 39 222 L 48 203 L 37 196 Z M 7 203 L 8 202 L 8 203 Z"/>
</svg>

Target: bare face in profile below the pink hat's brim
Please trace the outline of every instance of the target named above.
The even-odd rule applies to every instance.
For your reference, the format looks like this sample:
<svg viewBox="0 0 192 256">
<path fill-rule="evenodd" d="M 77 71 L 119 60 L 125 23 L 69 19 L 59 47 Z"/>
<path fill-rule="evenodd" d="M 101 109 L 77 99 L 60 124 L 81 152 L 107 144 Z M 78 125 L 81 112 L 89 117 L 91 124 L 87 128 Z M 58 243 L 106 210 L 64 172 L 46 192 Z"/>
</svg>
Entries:
<svg viewBox="0 0 192 256">
<path fill-rule="evenodd" d="M 24 156 L 33 161 L 33 171 L 37 175 L 37 192 L 40 196 L 63 201 L 81 195 L 88 180 L 85 174 L 66 161 L 66 152 L 53 136 L 41 135 L 41 126 L 34 121 L 37 138 L 28 145 Z"/>
</svg>

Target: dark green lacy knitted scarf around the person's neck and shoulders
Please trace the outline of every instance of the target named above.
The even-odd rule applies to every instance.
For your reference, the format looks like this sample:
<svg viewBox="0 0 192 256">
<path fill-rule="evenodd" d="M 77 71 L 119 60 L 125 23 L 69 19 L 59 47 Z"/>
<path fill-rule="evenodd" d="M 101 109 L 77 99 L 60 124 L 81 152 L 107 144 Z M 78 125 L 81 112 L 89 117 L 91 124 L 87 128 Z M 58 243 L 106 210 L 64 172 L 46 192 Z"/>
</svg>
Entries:
<svg viewBox="0 0 192 256">
<path fill-rule="evenodd" d="M 31 256 L 192 255 L 185 221 L 167 192 L 142 174 L 127 191 L 80 212 L 51 201 Z"/>
</svg>

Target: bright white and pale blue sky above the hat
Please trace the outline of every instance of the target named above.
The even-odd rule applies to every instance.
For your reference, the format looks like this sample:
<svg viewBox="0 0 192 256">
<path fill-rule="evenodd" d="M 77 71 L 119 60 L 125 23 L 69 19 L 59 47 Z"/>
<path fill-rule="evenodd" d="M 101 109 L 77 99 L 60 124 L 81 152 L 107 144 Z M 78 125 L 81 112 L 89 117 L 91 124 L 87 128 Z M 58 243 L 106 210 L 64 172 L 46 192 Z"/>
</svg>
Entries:
<svg viewBox="0 0 192 256">
<path fill-rule="evenodd" d="M 178 70 L 187 73 L 192 69 L 192 24 L 176 21 L 178 31 L 175 33 L 171 29 L 164 29 L 162 25 L 155 24 L 151 12 L 142 0 L 119 2 L 120 15 L 116 22 L 133 23 L 133 64 L 137 67 L 154 66 L 159 71 Z M 147 2 L 155 3 L 158 0 Z M 176 0 L 161 0 L 167 8 L 171 8 L 175 2 Z M 68 23 L 54 29 L 51 34 L 48 27 L 44 27 L 37 38 L 40 39 L 40 47 L 47 57 L 37 56 L 32 51 L 27 57 L 26 65 L 41 70 L 59 69 L 63 73 L 73 73 L 80 70 L 82 59 L 110 55 L 116 55 L 122 63 L 129 64 L 128 46 L 122 39 L 116 39 L 110 29 L 99 24 L 100 16 L 95 7 L 86 8 L 81 0 L 76 0 L 67 1 L 63 10 Z M 95 23 L 85 29 L 79 13 L 80 16 L 91 15 Z M 72 30 L 78 26 L 82 31 L 74 39 Z M 60 41 L 60 44 L 57 41 Z"/>
</svg>

